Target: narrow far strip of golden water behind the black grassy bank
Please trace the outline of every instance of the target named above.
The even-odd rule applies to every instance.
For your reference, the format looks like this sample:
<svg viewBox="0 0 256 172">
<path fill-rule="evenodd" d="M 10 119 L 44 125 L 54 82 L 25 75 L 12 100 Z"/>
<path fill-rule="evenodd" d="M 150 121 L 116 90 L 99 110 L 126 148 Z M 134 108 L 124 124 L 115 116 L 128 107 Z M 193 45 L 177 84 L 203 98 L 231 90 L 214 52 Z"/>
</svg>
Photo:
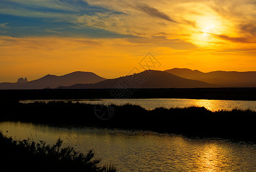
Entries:
<svg viewBox="0 0 256 172">
<path fill-rule="evenodd" d="M 52 101 L 52 100 L 22 100 L 21 103 L 31 103 L 34 101 Z M 68 101 L 68 100 L 58 100 L 58 101 Z M 126 103 L 141 105 L 141 107 L 147 110 L 153 110 L 157 107 L 205 107 L 210 111 L 218 110 L 232 110 L 238 108 L 241 110 L 247 110 L 250 108 L 256 111 L 256 101 L 242 101 L 242 100 L 197 100 L 197 99 L 102 99 L 102 100 L 70 100 L 73 103 L 91 103 L 91 104 L 117 104 L 122 105 Z"/>
</svg>

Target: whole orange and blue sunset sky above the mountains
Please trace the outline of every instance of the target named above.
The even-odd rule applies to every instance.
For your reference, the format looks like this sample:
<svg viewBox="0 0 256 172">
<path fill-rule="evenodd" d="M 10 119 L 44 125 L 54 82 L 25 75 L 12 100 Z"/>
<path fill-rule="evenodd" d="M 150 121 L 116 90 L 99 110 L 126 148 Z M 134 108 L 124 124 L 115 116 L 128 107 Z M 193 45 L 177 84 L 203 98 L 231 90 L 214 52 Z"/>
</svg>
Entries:
<svg viewBox="0 0 256 172">
<path fill-rule="evenodd" d="M 1 0 L 0 82 L 75 71 L 256 71 L 255 0 Z"/>
</svg>

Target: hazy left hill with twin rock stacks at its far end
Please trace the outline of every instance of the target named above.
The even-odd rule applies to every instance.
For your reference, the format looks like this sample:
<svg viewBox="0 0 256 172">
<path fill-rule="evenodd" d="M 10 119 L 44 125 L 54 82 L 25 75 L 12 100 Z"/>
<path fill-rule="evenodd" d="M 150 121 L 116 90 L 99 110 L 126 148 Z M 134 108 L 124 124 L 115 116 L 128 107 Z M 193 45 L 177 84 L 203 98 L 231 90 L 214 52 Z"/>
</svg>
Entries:
<svg viewBox="0 0 256 172">
<path fill-rule="evenodd" d="M 60 85 L 70 86 L 78 83 L 98 83 L 106 80 L 92 72 L 72 72 L 63 76 L 46 75 L 33 81 L 19 79 L 17 83 L 0 83 L 0 89 L 44 89 Z"/>
</svg>

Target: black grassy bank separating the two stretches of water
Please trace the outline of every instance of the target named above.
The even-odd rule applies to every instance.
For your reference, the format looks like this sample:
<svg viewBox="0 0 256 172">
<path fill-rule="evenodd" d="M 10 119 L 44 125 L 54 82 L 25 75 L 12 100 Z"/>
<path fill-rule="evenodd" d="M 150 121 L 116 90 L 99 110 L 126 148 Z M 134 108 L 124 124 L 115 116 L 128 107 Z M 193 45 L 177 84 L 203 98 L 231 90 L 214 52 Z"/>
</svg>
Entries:
<svg viewBox="0 0 256 172">
<path fill-rule="evenodd" d="M 256 142 L 256 112 L 232 110 L 212 112 L 204 107 L 156 108 L 145 110 L 138 105 L 110 105 L 49 102 L 22 104 L 1 103 L 1 120 L 47 124 L 76 124 L 94 127 L 114 127 L 169 132 L 187 136 L 219 137 Z M 102 108 L 102 109 L 99 109 Z M 107 120 L 95 115 L 101 110 L 102 118 L 113 112 Z M 106 112 L 106 113 L 104 113 Z"/>
</svg>

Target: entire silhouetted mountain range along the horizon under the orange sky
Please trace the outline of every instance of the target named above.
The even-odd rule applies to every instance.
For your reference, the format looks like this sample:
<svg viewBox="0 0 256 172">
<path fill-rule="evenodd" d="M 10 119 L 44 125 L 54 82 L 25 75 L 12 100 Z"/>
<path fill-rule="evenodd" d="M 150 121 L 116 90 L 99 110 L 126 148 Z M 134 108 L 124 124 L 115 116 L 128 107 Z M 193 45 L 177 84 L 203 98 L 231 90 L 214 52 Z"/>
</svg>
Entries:
<svg viewBox="0 0 256 172">
<path fill-rule="evenodd" d="M 256 87 L 256 72 L 200 72 L 173 68 L 147 70 L 134 75 L 105 79 L 92 72 L 72 72 L 63 76 L 46 75 L 37 80 L 18 79 L 0 83 L 0 89 L 87 89 L 87 88 L 216 88 Z"/>
</svg>

